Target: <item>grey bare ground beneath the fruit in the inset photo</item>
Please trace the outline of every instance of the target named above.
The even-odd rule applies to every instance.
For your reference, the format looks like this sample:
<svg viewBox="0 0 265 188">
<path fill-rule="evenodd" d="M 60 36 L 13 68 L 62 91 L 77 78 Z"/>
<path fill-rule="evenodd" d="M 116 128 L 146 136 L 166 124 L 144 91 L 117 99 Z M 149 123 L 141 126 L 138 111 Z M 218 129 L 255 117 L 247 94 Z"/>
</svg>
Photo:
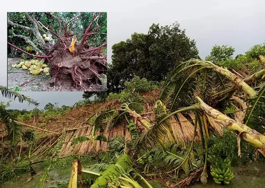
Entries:
<svg viewBox="0 0 265 188">
<path fill-rule="evenodd" d="M 12 68 L 11 64 L 18 63 L 20 58 L 8 58 L 7 59 L 7 87 L 12 91 L 24 91 L 24 92 L 77 92 L 80 91 L 74 86 L 64 86 L 63 83 L 57 82 L 56 87 L 50 86 L 51 76 L 32 75 L 28 71 L 21 68 Z M 34 79 L 36 78 L 36 79 Z M 34 79 L 34 80 L 32 80 Z M 69 79 L 71 77 L 69 76 Z M 32 80 L 32 81 L 30 81 Z M 26 84 L 25 82 L 30 81 Z M 24 85 L 23 85 L 24 84 Z M 104 91 L 107 87 L 107 80 L 102 85 L 91 85 L 91 88 L 96 91 Z M 92 91 L 92 90 L 91 90 Z"/>
</svg>

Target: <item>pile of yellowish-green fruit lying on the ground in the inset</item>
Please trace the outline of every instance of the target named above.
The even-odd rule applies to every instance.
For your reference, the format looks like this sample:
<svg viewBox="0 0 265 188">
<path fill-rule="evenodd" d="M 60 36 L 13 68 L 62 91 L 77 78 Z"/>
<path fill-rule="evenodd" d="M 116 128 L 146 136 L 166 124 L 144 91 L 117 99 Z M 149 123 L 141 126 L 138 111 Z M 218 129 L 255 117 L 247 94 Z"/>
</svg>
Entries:
<svg viewBox="0 0 265 188">
<path fill-rule="evenodd" d="M 43 72 L 46 76 L 50 75 L 50 68 L 48 67 L 48 65 L 39 60 L 20 60 L 20 63 L 14 63 L 11 66 L 13 68 L 22 68 L 23 70 L 28 70 L 29 73 L 33 75 L 38 75 L 41 72 Z"/>
</svg>

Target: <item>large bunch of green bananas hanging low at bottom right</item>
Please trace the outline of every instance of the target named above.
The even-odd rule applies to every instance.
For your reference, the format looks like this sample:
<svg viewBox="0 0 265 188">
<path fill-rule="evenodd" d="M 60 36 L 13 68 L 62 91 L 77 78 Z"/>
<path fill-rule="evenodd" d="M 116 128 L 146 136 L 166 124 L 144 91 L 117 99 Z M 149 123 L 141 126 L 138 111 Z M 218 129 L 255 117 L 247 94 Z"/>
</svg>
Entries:
<svg viewBox="0 0 265 188">
<path fill-rule="evenodd" d="M 215 155 L 208 155 L 208 159 L 212 161 L 210 173 L 214 182 L 223 185 L 230 184 L 231 180 L 234 179 L 234 173 L 230 169 L 231 160 L 229 158 L 225 158 L 224 160 L 219 158 L 216 160 Z"/>
</svg>

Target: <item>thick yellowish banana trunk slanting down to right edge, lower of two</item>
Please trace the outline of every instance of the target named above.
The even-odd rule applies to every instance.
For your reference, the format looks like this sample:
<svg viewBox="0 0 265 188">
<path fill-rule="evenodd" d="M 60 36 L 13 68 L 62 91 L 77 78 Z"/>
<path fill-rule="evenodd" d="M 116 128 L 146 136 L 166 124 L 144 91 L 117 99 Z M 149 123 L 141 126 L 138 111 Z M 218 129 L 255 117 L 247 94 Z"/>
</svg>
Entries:
<svg viewBox="0 0 265 188">
<path fill-rule="evenodd" d="M 240 135 L 241 138 L 253 144 L 255 147 L 261 148 L 262 151 L 265 151 L 265 135 L 247 125 L 236 122 L 218 110 L 208 106 L 200 97 L 196 96 L 195 98 L 199 102 L 194 105 L 198 110 L 204 111 L 206 115 L 214 118 L 220 125 L 227 127 L 229 130 L 239 132 L 238 135 Z"/>
</svg>

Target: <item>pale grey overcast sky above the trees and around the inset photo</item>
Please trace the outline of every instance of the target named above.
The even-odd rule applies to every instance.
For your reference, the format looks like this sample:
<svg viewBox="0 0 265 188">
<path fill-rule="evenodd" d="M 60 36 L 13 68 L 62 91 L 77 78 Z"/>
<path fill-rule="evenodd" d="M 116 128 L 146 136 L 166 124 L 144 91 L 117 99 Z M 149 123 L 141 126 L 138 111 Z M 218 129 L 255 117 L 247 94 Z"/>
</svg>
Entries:
<svg viewBox="0 0 265 188">
<path fill-rule="evenodd" d="M 236 54 L 243 54 L 251 46 L 265 40 L 265 0 L 97 0 L 70 1 L 45 0 L 41 6 L 35 0 L 12 0 L 2 4 L 0 21 L 2 30 L 0 85 L 6 85 L 6 12 L 8 11 L 107 11 L 108 63 L 111 46 L 129 38 L 133 32 L 147 33 L 153 23 L 171 25 L 174 22 L 185 29 L 197 42 L 201 58 L 209 54 L 212 46 L 231 45 Z M 73 5 L 74 3 L 74 5 Z M 31 7 L 32 6 L 32 7 Z M 15 22 L 15 21 L 14 21 Z M 73 105 L 82 99 L 82 92 L 24 92 L 40 102 Z M 6 101 L 1 98 L 0 100 Z M 33 106 L 12 102 L 11 108 L 31 109 Z"/>
</svg>

